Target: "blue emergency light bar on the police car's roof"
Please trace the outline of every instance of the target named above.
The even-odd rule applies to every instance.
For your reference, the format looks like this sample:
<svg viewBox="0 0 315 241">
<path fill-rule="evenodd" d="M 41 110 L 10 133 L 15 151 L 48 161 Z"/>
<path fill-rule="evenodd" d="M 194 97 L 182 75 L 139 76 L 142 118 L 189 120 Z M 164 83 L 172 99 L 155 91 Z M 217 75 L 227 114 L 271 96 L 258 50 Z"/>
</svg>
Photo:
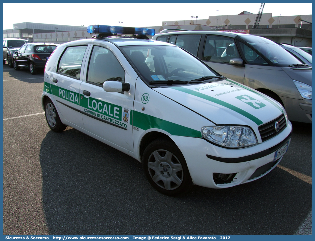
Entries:
<svg viewBox="0 0 315 241">
<path fill-rule="evenodd" d="M 153 28 L 134 28 L 110 25 L 90 25 L 87 27 L 88 33 L 105 33 L 105 34 L 130 34 L 130 35 L 145 35 L 154 36 Z"/>
</svg>

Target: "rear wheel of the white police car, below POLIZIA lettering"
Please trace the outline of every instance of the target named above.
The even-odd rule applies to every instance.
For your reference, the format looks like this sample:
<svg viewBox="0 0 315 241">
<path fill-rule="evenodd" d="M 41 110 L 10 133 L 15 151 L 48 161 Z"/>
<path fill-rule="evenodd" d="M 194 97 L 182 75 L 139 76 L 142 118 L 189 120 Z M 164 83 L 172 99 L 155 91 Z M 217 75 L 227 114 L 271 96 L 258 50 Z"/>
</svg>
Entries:
<svg viewBox="0 0 315 241">
<path fill-rule="evenodd" d="M 62 132 L 66 129 L 67 126 L 61 122 L 58 112 L 50 99 L 45 102 L 45 116 L 47 124 L 52 131 Z"/>
</svg>

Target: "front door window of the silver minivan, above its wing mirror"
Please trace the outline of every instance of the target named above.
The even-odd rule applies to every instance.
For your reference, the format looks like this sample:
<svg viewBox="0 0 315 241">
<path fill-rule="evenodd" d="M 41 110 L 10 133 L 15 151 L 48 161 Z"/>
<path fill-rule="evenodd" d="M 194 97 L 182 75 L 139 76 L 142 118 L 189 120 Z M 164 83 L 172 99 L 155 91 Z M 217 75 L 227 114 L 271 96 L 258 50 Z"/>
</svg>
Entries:
<svg viewBox="0 0 315 241">
<path fill-rule="evenodd" d="M 240 58 L 240 55 L 232 38 L 207 36 L 202 60 L 230 63 L 233 58 Z"/>
</svg>

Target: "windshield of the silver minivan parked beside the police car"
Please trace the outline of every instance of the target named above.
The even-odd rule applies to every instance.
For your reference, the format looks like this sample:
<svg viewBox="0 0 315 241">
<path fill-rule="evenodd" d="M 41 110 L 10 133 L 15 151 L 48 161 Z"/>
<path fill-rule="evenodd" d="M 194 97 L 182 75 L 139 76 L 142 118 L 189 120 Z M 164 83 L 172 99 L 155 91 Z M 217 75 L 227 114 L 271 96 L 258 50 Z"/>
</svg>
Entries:
<svg viewBox="0 0 315 241">
<path fill-rule="evenodd" d="M 257 37 L 253 35 L 240 35 L 239 38 L 246 41 L 247 44 L 250 45 L 251 48 L 255 49 L 259 52 L 260 55 L 264 56 L 266 59 L 268 59 L 270 62 L 272 62 L 273 65 L 279 66 L 279 67 L 288 67 L 292 64 L 302 64 L 299 60 L 297 60 L 294 56 L 292 56 L 290 53 L 288 53 L 285 49 L 283 49 L 278 44 L 272 42 L 271 40 L 267 38 Z M 253 53 L 253 50 L 249 48 L 241 49 L 243 51 L 243 54 L 245 58 L 248 60 L 249 64 L 254 63 L 257 58 L 254 59 L 255 54 Z M 252 62 L 251 62 L 252 58 Z M 259 63 L 259 61 L 256 61 Z M 261 61 L 262 64 L 264 63 Z"/>
</svg>

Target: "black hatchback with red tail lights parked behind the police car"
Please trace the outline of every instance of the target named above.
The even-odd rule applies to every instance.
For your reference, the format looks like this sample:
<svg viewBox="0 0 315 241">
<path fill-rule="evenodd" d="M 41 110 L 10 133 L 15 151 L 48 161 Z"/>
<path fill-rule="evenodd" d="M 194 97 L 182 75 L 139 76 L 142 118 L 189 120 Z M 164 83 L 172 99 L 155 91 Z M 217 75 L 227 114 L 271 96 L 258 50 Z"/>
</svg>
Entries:
<svg viewBox="0 0 315 241">
<path fill-rule="evenodd" d="M 28 68 L 31 74 L 44 68 L 51 53 L 59 44 L 28 43 L 24 44 L 19 51 L 13 55 L 13 67 L 15 70 Z"/>
</svg>

